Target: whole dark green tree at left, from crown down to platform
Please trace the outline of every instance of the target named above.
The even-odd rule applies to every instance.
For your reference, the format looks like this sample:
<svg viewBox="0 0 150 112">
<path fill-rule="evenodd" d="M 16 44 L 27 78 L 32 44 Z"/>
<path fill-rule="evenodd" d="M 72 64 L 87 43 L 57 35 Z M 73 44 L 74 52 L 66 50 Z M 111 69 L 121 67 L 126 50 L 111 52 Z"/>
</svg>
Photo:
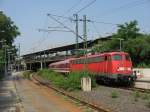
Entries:
<svg viewBox="0 0 150 112">
<path fill-rule="evenodd" d="M 3 74 L 4 71 L 3 69 L 5 57 L 4 46 L 2 46 L 2 44 L 4 45 L 4 43 L 2 43 L 2 41 L 6 40 L 5 47 L 7 46 L 8 48 L 12 48 L 12 43 L 18 35 L 20 35 L 18 27 L 14 24 L 10 17 L 7 17 L 2 11 L 0 11 L 0 77 L 2 76 L 1 74 Z"/>
</svg>

